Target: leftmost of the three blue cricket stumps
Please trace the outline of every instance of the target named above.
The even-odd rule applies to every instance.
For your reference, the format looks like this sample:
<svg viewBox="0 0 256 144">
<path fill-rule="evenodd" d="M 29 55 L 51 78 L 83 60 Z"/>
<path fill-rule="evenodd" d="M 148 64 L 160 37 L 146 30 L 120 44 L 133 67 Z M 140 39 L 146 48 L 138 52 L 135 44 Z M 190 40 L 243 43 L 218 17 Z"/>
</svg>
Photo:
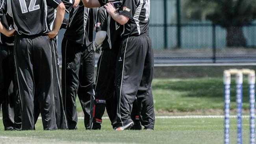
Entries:
<svg viewBox="0 0 256 144">
<path fill-rule="evenodd" d="M 229 130 L 230 130 L 230 84 L 231 74 L 228 70 L 224 71 L 223 74 L 224 82 L 224 144 L 229 144 Z"/>
</svg>

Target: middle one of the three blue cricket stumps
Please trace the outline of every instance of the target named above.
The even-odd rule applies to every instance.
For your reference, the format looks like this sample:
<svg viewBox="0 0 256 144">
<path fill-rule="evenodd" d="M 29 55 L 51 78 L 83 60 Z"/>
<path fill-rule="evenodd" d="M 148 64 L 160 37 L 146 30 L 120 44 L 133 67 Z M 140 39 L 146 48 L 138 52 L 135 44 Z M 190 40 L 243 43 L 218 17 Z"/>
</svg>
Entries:
<svg viewBox="0 0 256 144">
<path fill-rule="evenodd" d="M 243 72 L 236 74 L 236 103 L 237 103 L 237 144 L 243 144 L 242 112 L 243 112 Z"/>
</svg>

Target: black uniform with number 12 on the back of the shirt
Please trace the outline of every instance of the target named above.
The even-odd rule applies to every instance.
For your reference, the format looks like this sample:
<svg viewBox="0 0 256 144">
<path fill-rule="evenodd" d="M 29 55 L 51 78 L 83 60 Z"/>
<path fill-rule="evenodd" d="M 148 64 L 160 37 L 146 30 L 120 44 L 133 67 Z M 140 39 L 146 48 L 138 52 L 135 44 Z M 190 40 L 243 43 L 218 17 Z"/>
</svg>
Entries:
<svg viewBox="0 0 256 144">
<path fill-rule="evenodd" d="M 45 130 L 57 129 L 54 110 L 52 59 L 46 17 L 47 6 L 60 0 L 5 0 L 1 15 L 13 17 L 17 31 L 15 64 L 22 105 L 22 130 L 34 129 L 34 99 L 38 100 Z"/>
</svg>

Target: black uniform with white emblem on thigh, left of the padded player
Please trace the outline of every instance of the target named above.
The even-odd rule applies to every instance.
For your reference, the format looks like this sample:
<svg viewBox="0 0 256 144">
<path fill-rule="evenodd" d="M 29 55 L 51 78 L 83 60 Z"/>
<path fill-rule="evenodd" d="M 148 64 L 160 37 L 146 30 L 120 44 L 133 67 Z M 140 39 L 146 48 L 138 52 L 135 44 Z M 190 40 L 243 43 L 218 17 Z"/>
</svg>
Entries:
<svg viewBox="0 0 256 144">
<path fill-rule="evenodd" d="M 95 52 L 93 28 L 95 9 L 72 8 L 69 24 L 62 41 L 62 92 L 69 129 L 77 129 L 76 95 L 84 113 L 85 128 L 89 129 L 90 96 L 94 85 Z"/>
</svg>

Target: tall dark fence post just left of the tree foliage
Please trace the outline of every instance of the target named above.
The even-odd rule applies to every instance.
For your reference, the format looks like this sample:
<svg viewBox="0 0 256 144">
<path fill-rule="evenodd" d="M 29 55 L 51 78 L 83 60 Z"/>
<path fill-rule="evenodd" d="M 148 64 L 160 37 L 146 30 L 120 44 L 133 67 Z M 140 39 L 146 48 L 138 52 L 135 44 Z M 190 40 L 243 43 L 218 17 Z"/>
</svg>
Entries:
<svg viewBox="0 0 256 144">
<path fill-rule="evenodd" d="M 177 47 L 181 47 L 180 0 L 176 0 L 177 13 Z"/>
</svg>

